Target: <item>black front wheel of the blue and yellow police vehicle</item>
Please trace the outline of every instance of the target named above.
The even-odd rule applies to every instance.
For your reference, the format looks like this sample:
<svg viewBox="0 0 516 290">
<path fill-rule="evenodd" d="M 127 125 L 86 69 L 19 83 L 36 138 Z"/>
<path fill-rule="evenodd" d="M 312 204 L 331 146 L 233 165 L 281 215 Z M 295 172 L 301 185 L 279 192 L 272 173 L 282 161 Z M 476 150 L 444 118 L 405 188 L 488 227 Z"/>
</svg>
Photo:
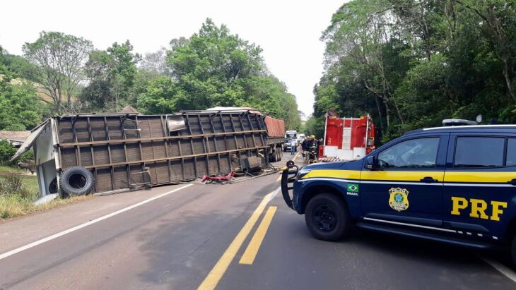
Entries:
<svg viewBox="0 0 516 290">
<path fill-rule="evenodd" d="M 315 195 L 308 202 L 305 222 L 312 236 L 323 241 L 339 241 L 351 231 L 351 219 L 344 201 L 331 193 Z"/>
</svg>

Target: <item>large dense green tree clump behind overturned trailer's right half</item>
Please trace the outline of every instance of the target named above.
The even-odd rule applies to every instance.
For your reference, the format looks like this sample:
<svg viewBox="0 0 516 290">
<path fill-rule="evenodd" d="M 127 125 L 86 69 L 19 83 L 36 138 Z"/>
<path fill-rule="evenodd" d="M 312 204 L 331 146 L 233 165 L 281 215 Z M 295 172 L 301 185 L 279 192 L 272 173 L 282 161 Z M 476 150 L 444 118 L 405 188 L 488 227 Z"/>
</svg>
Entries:
<svg viewBox="0 0 516 290">
<path fill-rule="evenodd" d="M 288 128 L 300 126 L 295 97 L 266 70 L 262 49 L 211 20 L 192 37 L 170 42 L 168 73 L 151 80 L 139 95 L 148 114 L 209 107 L 253 107 L 274 111 Z"/>
</svg>

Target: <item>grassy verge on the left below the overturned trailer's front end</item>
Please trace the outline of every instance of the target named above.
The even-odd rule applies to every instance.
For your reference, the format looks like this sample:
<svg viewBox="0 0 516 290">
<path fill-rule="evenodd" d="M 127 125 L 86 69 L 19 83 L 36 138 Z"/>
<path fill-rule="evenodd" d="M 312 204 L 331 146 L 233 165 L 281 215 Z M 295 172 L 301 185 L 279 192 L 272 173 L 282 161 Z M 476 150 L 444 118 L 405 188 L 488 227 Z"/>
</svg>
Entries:
<svg viewBox="0 0 516 290">
<path fill-rule="evenodd" d="M 49 210 L 78 200 L 86 200 L 91 195 L 56 198 L 49 203 L 34 205 L 39 198 L 36 176 L 16 174 L 0 176 L 0 220 Z"/>
</svg>

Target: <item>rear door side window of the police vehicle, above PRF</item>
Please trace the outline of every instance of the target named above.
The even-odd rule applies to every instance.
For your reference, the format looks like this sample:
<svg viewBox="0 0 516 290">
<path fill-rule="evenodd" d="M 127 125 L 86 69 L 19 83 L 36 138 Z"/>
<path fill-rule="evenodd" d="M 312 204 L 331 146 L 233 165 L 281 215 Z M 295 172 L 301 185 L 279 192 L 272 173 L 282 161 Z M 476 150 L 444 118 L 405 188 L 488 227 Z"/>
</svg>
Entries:
<svg viewBox="0 0 516 290">
<path fill-rule="evenodd" d="M 455 145 L 455 167 L 503 166 L 505 138 L 459 137 Z"/>
</svg>

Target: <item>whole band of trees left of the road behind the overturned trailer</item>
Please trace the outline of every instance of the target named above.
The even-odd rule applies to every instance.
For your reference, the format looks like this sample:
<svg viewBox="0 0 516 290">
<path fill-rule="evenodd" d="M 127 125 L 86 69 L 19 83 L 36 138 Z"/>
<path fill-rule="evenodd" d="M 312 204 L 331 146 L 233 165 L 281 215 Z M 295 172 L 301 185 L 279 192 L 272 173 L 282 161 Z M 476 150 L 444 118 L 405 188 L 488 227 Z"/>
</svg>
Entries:
<svg viewBox="0 0 516 290">
<path fill-rule="evenodd" d="M 257 44 L 211 19 L 199 32 L 145 55 L 129 40 L 98 49 L 61 32 L 40 33 L 23 56 L 0 44 L 0 130 L 30 130 L 56 114 L 118 112 L 127 105 L 144 114 L 209 107 L 253 107 L 274 112 L 298 129 L 295 96 L 266 68 Z"/>
</svg>

